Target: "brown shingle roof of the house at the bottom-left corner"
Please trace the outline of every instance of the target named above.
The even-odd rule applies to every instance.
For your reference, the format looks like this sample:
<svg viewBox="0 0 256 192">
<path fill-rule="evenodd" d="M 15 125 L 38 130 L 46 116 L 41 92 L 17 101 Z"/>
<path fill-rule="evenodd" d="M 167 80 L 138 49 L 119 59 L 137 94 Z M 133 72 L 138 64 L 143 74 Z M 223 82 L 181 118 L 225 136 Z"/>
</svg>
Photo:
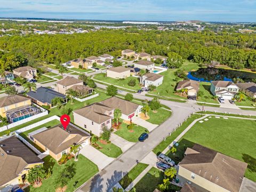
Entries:
<svg viewBox="0 0 256 192">
<path fill-rule="evenodd" d="M 0 186 L 17 178 L 28 164 L 43 163 L 14 136 L 0 141 L 0 145 Z"/>
</svg>

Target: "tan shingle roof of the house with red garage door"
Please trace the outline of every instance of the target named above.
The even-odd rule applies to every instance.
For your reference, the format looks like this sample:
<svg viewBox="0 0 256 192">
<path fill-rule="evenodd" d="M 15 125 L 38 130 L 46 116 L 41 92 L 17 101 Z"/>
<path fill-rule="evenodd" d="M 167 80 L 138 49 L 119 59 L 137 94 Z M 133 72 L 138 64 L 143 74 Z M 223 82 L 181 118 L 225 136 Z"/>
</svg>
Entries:
<svg viewBox="0 0 256 192">
<path fill-rule="evenodd" d="M 125 115 L 131 115 L 139 107 L 139 105 L 136 103 L 126 101 L 117 97 L 111 97 L 109 99 L 101 101 L 101 103 L 114 109 L 120 109 Z"/>
</svg>

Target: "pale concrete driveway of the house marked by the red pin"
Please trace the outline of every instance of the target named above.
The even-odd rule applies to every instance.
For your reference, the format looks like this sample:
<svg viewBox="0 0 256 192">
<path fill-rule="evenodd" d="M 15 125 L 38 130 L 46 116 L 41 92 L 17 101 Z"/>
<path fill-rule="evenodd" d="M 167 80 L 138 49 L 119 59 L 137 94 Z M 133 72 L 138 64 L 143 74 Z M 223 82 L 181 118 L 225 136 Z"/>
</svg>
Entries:
<svg viewBox="0 0 256 192">
<path fill-rule="evenodd" d="M 115 158 L 108 157 L 107 155 L 101 153 L 98 149 L 87 145 L 83 149 L 80 150 L 79 154 L 82 154 L 86 158 L 90 159 L 93 163 L 95 163 L 99 170 L 103 170 L 108 164 L 114 161 Z"/>
</svg>

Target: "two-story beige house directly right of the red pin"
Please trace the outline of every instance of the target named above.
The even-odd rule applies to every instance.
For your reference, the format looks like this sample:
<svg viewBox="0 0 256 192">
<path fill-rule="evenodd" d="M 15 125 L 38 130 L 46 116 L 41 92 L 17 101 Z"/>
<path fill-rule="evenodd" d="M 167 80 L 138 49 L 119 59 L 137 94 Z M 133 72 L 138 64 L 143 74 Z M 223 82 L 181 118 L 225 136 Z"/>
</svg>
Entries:
<svg viewBox="0 0 256 192">
<path fill-rule="evenodd" d="M 73 115 L 76 125 L 91 131 L 99 137 L 102 133 L 102 127 L 111 128 L 114 108 L 96 102 L 73 111 Z"/>
</svg>

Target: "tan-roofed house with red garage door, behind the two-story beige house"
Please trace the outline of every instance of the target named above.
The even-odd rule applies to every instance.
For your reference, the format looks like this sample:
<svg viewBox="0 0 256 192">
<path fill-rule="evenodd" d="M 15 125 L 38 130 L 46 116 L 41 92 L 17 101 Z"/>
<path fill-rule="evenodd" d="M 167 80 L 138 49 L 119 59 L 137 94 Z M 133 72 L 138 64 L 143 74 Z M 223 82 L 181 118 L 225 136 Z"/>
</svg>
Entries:
<svg viewBox="0 0 256 192">
<path fill-rule="evenodd" d="M 142 108 L 141 105 L 117 97 L 111 97 L 101 101 L 100 103 L 110 108 L 120 109 L 122 112 L 121 118 L 125 120 L 130 120 L 133 117 L 138 116 L 139 113 L 141 113 Z"/>
</svg>

